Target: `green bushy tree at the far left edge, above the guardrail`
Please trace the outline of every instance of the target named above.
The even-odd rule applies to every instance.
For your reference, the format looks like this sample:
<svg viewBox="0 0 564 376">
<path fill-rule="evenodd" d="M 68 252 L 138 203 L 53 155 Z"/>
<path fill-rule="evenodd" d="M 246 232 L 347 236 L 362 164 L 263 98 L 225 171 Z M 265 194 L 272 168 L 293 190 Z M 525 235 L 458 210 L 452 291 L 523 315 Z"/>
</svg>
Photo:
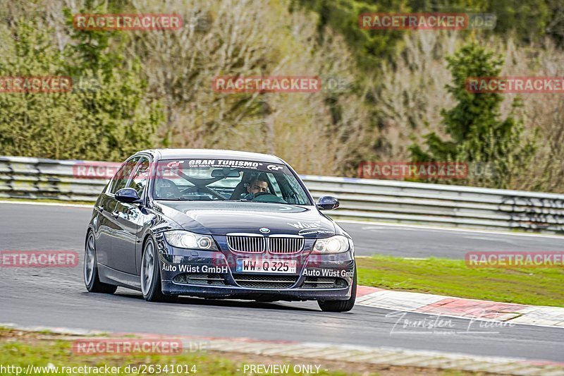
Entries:
<svg viewBox="0 0 564 376">
<path fill-rule="evenodd" d="M 63 57 L 47 30 L 20 20 L 15 30 L 1 30 L 0 76 L 65 75 Z M 0 93 L 0 154 L 73 158 L 94 156 L 94 129 L 79 127 L 80 99 L 71 92 Z"/>
</svg>

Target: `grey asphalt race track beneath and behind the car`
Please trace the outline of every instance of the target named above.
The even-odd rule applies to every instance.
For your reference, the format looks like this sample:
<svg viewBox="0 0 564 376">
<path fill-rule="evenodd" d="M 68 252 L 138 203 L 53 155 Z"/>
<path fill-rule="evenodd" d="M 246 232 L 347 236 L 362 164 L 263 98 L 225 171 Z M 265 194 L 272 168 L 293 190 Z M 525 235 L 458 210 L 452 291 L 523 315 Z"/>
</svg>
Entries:
<svg viewBox="0 0 564 376">
<path fill-rule="evenodd" d="M 252 337 L 389 346 L 484 356 L 563 361 L 564 328 L 513 325 L 443 317 L 448 327 L 407 328 L 398 320 L 428 315 L 355 307 L 321 313 L 314 302 L 252 303 L 181 298 L 146 303 L 140 293 L 87 293 L 82 282 L 82 244 L 92 210 L 83 207 L 0 204 L 0 250 L 76 250 L 74 268 L 0 268 L 0 322 L 109 332 Z M 357 255 L 462 258 L 467 250 L 562 250 L 564 238 L 487 232 L 343 224 Z"/>
</svg>

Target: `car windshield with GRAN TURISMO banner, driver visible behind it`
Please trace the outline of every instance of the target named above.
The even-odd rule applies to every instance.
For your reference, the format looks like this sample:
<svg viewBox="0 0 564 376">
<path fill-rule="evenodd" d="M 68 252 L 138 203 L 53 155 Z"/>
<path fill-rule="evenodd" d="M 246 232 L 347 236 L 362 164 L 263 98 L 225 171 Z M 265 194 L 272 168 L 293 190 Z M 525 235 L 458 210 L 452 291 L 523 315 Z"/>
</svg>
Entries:
<svg viewBox="0 0 564 376">
<path fill-rule="evenodd" d="M 237 159 L 166 159 L 157 164 L 155 200 L 312 205 L 286 164 Z"/>
</svg>

